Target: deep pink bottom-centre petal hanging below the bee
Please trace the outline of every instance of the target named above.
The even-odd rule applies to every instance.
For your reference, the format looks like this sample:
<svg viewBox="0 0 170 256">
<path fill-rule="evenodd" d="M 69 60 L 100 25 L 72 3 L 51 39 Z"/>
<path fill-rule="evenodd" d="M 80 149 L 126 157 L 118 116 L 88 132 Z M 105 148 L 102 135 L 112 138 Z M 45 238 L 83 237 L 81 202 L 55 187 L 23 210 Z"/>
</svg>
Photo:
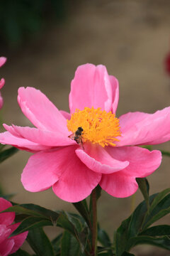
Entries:
<svg viewBox="0 0 170 256">
<path fill-rule="evenodd" d="M 67 146 L 56 154 L 57 168 L 62 173 L 52 187 L 59 198 L 72 203 L 89 196 L 101 180 L 101 174 L 91 171 L 79 160 L 75 149 L 77 146 Z"/>
</svg>

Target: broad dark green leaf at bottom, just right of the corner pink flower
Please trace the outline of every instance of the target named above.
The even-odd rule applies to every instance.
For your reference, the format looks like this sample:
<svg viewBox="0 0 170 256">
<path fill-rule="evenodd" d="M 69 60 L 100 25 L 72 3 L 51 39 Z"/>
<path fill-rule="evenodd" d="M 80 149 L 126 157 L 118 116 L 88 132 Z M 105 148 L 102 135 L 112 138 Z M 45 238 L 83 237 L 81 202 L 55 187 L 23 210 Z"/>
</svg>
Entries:
<svg viewBox="0 0 170 256">
<path fill-rule="evenodd" d="M 38 256 L 55 256 L 50 240 L 42 230 L 42 228 L 35 228 L 28 233 L 27 241 L 30 247 Z"/>
</svg>

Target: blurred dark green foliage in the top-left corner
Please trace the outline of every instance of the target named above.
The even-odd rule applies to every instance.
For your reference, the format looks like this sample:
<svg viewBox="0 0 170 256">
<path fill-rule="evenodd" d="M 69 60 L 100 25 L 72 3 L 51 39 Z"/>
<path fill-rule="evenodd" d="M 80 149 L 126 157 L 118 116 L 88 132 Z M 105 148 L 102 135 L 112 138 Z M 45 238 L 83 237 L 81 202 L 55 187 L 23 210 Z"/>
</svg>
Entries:
<svg viewBox="0 0 170 256">
<path fill-rule="evenodd" d="M 42 31 L 66 14 L 69 0 L 0 0 L 0 42 L 8 47 Z"/>
</svg>

